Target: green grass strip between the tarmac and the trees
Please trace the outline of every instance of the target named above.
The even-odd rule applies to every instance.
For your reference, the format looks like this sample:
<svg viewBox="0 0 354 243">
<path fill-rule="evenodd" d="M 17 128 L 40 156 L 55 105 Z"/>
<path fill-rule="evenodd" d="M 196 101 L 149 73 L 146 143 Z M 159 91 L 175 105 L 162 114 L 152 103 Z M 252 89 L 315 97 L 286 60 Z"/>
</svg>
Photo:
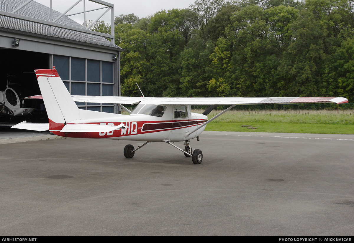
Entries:
<svg viewBox="0 0 354 243">
<path fill-rule="evenodd" d="M 219 112 L 210 112 L 208 118 Z M 232 110 L 209 123 L 205 131 L 354 134 L 354 110 Z"/>
</svg>

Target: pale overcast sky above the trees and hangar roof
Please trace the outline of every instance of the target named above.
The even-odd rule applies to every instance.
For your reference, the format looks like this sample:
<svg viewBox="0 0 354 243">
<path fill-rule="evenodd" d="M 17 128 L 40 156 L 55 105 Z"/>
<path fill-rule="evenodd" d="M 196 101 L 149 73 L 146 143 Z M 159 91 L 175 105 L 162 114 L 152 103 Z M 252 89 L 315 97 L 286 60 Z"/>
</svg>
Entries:
<svg viewBox="0 0 354 243">
<path fill-rule="evenodd" d="M 50 0 L 35 0 L 40 4 L 50 7 Z M 188 8 L 190 4 L 193 4 L 195 0 L 104 0 L 114 4 L 114 16 L 119 16 L 120 14 L 134 13 L 139 18 L 147 17 L 160 10 L 169 10 L 172 8 Z M 52 0 L 53 9 L 59 12 L 64 12 L 69 7 L 71 7 L 76 0 Z M 86 0 L 86 11 L 95 8 L 103 7 L 102 5 L 93 3 Z M 79 13 L 84 11 L 84 4 L 81 1 L 67 14 Z M 98 18 L 105 10 L 92 11 L 86 13 L 86 19 L 95 20 Z M 74 16 L 69 16 L 69 18 L 74 19 L 76 22 L 82 24 L 84 22 L 84 14 L 77 14 Z M 108 11 L 101 20 L 105 22 L 110 22 L 110 11 Z"/>
</svg>

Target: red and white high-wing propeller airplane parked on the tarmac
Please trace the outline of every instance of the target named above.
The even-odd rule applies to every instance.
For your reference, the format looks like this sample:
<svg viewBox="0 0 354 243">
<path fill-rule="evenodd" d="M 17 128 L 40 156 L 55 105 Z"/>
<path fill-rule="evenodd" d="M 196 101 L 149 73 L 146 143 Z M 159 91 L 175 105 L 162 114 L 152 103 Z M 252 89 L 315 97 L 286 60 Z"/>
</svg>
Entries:
<svg viewBox="0 0 354 243">
<path fill-rule="evenodd" d="M 48 114 L 48 124 L 23 121 L 12 128 L 48 130 L 63 137 L 105 138 L 145 142 L 134 148 L 127 144 L 125 158 L 133 158 L 138 149 L 149 142 L 165 142 L 181 150 L 186 157 L 192 157 L 193 164 L 200 164 L 203 154 L 200 149 L 192 150 L 190 140 L 204 131 L 205 125 L 239 104 L 285 104 L 285 103 L 348 103 L 343 97 L 124 97 L 124 96 L 71 96 L 57 70 L 34 71 L 41 90 L 41 96 Z M 129 115 L 113 114 L 79 109 L 75 101 L 117 103 Z M 130 111 L 121 104 L 137 105 Z M 191 112 L 191 105 L 210 105 L 202 114 Z M 208 120 L 207 114 L 218 105 L 230 105 L 224 111 Z M 173 142 L 184 142 L 184 149 Z"/>
</svg>

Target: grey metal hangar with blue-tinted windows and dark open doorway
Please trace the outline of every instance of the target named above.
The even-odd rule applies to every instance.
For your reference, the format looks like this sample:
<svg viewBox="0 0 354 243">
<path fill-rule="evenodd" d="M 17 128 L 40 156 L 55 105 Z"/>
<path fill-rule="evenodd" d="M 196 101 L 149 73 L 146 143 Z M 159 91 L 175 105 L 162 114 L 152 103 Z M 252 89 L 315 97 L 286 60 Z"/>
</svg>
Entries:
<svg viewBox="0 0 354 243">
<path fill-rule="evenodd" d="M 85 19 L 85 0 L 81 1 Z M 114 5 L 90 1 L 106 8 L 99 18 L 110 11 L 114 26 Z M 89 30 L 99 18 L 85 28 L 65 15 L 70 9 L 60 13 L 33 0 L 0 1 L 0 90 L 16 83 L 28 95 L 40 94 L 36 77 L 30 72 L 55 66 L 72 95 L 120 95 L 120 52 L 124 49 L 114 44 L 114 28 L 110 34 Z M 80 109 L 119 112 L 114 104 L 77 105 Z"/>
</svg>

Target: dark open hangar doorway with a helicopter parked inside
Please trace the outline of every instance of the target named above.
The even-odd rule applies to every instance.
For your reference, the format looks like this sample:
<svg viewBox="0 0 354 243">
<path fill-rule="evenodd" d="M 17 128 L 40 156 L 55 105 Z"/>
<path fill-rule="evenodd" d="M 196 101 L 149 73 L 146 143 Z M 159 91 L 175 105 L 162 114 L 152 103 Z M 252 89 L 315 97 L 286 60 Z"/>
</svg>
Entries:
<svg viewBox="0 0 354 243">
<path fill-rule="evenodd" d="M 48 118 L 46 117 L 42 101 L 24 101 L 23 98 L 40 94 L 37 79 L 33 71 L 35 69 L 49 68 L 50 54 L 17 49 L 0 49 L 0 57 L 0 91 L 6 90 L 1 96 L 0 121 L 9 123 L 21 122 L 23 120 L 47 122 Z M 29 103 L 24 104 L 24 102 Z M 33 115 L 16 114 L 16 107 L 20 103 L 21 107 L 35 108 L 34 111 L 31 111 Z"/>
</svg>

